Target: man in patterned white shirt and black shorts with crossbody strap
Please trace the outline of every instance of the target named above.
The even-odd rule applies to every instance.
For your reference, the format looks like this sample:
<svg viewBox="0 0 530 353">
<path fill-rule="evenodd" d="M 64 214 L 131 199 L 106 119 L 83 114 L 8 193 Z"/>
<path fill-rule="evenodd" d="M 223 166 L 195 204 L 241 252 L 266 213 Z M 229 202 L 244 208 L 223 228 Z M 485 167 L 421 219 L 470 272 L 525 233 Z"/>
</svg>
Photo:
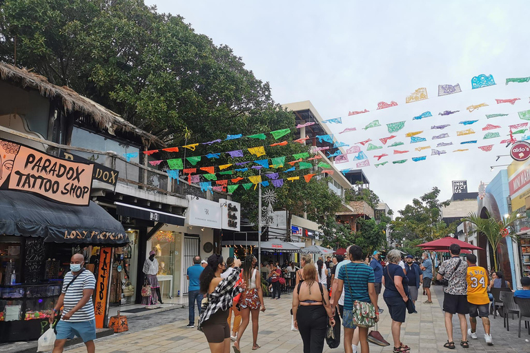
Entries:
<svg viewBox="0 0 530 353">
<path fill-rule="evenodd" d="M 449 247 L 451 259 L 446 260 L 438 270 L 438 281 L 446 283 L 444 285 L 444 305 L 445 312 L 445 330 L 447 331 L 447 343 L 444 347 L 451 350 L 455 349 L 453 341 L 453 315 L 458 314 L 460 320 L 460 332 L 462 332 L 462 341 L 460 345 L 464 348 L 469 347 L 467 341 L 467 321 L 466 314 L 469 314 L 469 303 L 467 303 L 467 263 L 460 259 L 460 245 L 451 244 Z"/>
</svg>

